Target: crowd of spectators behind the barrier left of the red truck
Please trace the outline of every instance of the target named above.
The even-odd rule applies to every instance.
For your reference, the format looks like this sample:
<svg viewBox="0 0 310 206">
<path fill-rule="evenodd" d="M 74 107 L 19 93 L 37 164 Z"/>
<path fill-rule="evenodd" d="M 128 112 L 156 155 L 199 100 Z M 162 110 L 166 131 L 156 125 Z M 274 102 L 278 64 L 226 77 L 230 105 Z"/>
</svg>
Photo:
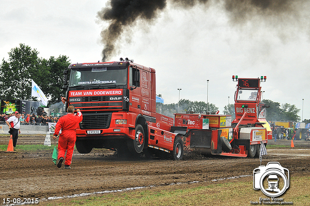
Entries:
<svg viewBox="0 0 310 206">
<path fill-rule="evenodd" d="M 1 114 L 0 115 L 0 124 L 4 125 L 5 121 L 10 118 L 14 114 Z M 35 115 L 34 113 L 32 115 L 30 114 L 20 114 L 19 113 L 19 121 L 20 125 L 42 125 L 46 126 L 49 122 L 57 123 L 59 117 L 53 117 L 53 116 L 43 116 L 43 115 Z"/>
</svg>

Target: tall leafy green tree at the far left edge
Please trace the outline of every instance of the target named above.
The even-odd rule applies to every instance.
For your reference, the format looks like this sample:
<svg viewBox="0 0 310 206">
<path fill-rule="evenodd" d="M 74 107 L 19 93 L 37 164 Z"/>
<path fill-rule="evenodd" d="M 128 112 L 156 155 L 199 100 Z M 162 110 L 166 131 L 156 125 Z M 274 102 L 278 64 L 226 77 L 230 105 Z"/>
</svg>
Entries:
<svg viewBox="0 0 310 206">
<path fill-rule="evenodd" d="M 38 53 L 36 49 L 19 44 L 19 47 L 12 48 L 9 52 L 8 61 L 2 59 L 0 64 L 1 98 L 30 99 L 31 79 L 40 79 L 38 77 L 46 74 L 40 66 L 41 59 Z"/>
</svg>

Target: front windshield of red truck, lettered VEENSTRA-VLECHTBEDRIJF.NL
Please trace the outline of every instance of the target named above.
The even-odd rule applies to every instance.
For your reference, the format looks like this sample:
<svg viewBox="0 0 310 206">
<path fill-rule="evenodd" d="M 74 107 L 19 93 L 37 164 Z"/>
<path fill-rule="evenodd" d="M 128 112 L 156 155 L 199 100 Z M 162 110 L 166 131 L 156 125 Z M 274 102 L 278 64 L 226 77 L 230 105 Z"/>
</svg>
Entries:
<svg viewBox="0 0 310 206">
<path fill-rule="evenodd" d="M 126 85 L 127 67 L 71 68 L 69 87 L 105 84 Z"/>
</svg>

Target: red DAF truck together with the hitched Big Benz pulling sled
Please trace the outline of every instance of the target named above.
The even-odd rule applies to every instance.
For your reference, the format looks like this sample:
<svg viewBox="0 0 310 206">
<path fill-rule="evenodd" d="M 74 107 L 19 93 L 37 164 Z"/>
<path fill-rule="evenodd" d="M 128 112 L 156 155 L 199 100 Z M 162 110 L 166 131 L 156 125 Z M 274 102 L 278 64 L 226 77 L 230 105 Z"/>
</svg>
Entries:
<svg viewBox="0 0 310 206">
<path fill-rule="evenodd" d="M 79 153 L 107 148 L 136 156 L 161 150 L 182 159 L 185 147 L 203 154 L 255 157 L 260 141 L 267 143 L 270 135 L 261 114 L 265 108 L 260 103 L 262 80 L 246 79 L 247 87 L 239 79 L 233 121 L 231 115 L 176 113 L 173 120 L 156 113 L 155 69 L 127 58 L 70 64 L 64 70 L 63 89 L 68 102 L 83 114 L 77 129 Z M 250 90 L 259 95 L 253 100 L 239 97 Z"/>
</svg>

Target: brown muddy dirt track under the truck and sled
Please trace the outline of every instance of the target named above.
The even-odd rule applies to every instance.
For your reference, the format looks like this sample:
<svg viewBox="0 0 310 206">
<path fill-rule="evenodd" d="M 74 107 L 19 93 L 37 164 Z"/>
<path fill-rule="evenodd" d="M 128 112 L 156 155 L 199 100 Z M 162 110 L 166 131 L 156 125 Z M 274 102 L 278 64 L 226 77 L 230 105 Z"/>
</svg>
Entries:
<svg viewBox="0 0 310 206">
<path fill-rule="evenodd" d="M 21 144 L 43 144 L 45 135 L 20 135 Z M 0 136 L 7 144 L 8 136 Z M 53 141 L 52 141 L 53 144 Z M 268 144 L 291 145 L 291 141 Z M 18 151 L 18 146 L 16 147 Z M 120 190 L 133 187 L 164 187 L 171 183 L 212 182 L 214 179 L 252 175 L 260 165 L 258 158 L 205 157 L 186 153 L 183 160 L 160 158 L 118 158 L 113 151 L 93 149 L 89 154 L 74 151 L 72 169 L 58 169 L 52 162 L 53 150 L 0 151 L 0 200 L 3 198 L 39 198 L 53 201 L 85 192 Z M 291 176 L 309 175 L 310 141 L 294 141 L 294 148 L 267 149 L 262 164 L 278 161 Z M 252 178 L 252 177 L 250 177 Z M 2 203 L 0 203 L 2 205 Z"/>
</svg>

